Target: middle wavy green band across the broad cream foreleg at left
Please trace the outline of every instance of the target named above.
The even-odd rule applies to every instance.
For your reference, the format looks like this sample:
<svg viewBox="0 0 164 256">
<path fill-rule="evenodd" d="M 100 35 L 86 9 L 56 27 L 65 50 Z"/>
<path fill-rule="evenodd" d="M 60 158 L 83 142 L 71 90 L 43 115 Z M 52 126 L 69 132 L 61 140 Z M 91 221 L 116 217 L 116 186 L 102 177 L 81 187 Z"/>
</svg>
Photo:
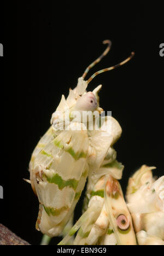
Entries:
<svg viewBox="0 0 164 256">
<path fill-rule="evenodd" d="M 45 174 L 44 174 L 44 176 L 46 177 L 46 180 L 49 183 L 54 183 L 54 184 L 58 185 L 59 189 L 63 189 L 65 187 L 70 187 L 75 190 L 78 187 L 79 181 L 77 181 L 76 179 L 68 179 L 67 181 L 65 181 L 57 173 L 55 173 L 52 177 L 48 177 Z"/>
</svg>

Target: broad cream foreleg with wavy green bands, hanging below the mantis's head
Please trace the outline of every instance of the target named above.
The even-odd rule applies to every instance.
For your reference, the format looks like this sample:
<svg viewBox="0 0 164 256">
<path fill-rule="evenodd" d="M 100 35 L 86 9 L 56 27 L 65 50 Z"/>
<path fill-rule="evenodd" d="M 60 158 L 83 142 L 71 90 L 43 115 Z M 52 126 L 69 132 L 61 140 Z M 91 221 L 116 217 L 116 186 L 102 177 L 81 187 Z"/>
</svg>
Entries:
<svg viewBox="0 0 164 256">
<path fill-rule="evenodd" d="M 39 198 L 37 229 L 60 235 L 78 202 L 87 177 L 87 131 L 63 131 L 36 156 L 31 171 Z"/>
</svg>

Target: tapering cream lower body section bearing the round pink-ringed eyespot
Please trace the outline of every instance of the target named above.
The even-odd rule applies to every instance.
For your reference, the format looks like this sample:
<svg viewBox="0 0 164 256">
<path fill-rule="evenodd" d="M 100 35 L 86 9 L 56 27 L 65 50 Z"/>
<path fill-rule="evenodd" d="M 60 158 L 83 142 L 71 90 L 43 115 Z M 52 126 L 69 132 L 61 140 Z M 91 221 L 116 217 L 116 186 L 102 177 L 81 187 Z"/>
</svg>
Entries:
<svg viewBox="0 0 164 256">
<path fill-rule="evenodd" d="M 102 176 L 95 184 L 88 208 L 81 216 L 81 220 L 74 245 L 96 245 L 107 242 L 112 245 L 136 245 L 132 219 L 120 184 L 109 174 Z M 67 239 L 69 239 L 68 235 Z M 64 245 L 67 239 L 65 237 L 60 245 Z"/>
</svg>

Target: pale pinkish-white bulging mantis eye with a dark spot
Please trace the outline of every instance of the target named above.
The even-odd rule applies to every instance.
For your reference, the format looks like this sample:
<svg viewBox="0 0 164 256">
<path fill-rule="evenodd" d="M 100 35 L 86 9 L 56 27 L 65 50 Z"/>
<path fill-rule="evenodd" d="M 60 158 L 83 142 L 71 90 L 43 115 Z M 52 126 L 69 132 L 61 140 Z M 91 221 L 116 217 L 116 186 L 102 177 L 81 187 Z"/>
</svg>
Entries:
<svg viewBox="0 0 164 256">
<path fill-rule="evenodd" d="M 94 111 L 97 108 L 97 100 L 95 95 L 89 91 L 81 96 L 75 105 L 76 110 Z"/>
</svg>

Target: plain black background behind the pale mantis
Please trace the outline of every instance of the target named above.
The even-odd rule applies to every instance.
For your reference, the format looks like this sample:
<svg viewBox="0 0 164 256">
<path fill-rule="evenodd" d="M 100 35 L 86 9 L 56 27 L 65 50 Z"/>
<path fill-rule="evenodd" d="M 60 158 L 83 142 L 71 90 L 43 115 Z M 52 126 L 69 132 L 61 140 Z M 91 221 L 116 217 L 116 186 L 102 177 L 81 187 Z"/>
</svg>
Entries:
<svg viewBox="0 0 164 256">
<path fill-rule="evenodd" d="M 5 33 L 7 44 L 1 58 L 5 62 L 5 86 L 1 84 L 1 88 L 6 95 L 1 94 L 2 100 L 5 97 L 2 116 L 9 132 L 2 154 L 2 160 L 6 156 L 7 160 L 1 170 L 4 199 L 0 201 L 0 222 L 38 245 L 42 237 L 35 230 L 38 200 L 22 178 L 29 178 L 32 151 L 48 129 L 61 95 L 67 96 L 85 68 L 101 55 L 104 39 L 112 40 L 112 48 L 87 78 L 126 59 L 131 51 L 136 53 L 126 65 L 98 75 L 88 88 L 103 85 L 101 107 L 112 110 L 122 127 L 114 147 L 118 161 L 125 165 L 122 189 L 125 192 L 128 177 L 143 164 L 156 166 L 155 175 L 163 174 L 162 8 L 142 1 L 28 1 L 19 2 L 5 22 L 13 33 Z M 1 30 L 0 43 L 3 36 Z M 13 103 L 4 114 L 9 95 Z M 80 207 L 81 202 L 75 219 L 81 214 Z M 51 243 L 58 241 L 60 238 L 54 238 Z"/>
</svg>

